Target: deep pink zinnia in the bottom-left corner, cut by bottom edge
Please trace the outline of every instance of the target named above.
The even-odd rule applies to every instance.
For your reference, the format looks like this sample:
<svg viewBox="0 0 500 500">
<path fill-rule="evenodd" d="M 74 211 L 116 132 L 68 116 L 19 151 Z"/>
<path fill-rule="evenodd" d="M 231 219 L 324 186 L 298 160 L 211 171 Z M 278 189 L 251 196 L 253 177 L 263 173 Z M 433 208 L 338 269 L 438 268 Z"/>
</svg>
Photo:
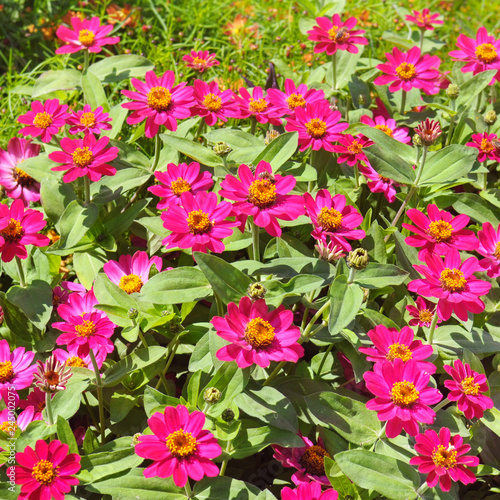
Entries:
<svg viewBox="0 0 500 500">
<path fill-rule="evenodd" d="M 46 443 L 39 439 L 35 449 L 26 446 L 16 453 L 16 484 L 21 484 L 19 500 L 63 500 L 71 486 L 79 483 L 75 474 L 80 470 L 80 455 L 69 453 L 67 444 L 54 439 Z"/>
</svg>

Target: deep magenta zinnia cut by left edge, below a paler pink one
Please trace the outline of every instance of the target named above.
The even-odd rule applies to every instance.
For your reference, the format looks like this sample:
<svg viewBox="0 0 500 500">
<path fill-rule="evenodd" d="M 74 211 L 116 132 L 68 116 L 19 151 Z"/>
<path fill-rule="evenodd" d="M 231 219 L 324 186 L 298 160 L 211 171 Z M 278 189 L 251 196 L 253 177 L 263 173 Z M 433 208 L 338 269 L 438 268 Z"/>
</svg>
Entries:
<svg viewBox="0 0 500 500">
<path fill-rule="evenodd" d="M 50 243 L 47 236 L 38 234 L 45 227 L 43 214 L 25 208 L 22 200 L 14 200 L 10 208 L 0 204 L 0 253 L 3 262 L 14 256 L 26 259 L 26 245 L 44 247 Z"/>
</svg>

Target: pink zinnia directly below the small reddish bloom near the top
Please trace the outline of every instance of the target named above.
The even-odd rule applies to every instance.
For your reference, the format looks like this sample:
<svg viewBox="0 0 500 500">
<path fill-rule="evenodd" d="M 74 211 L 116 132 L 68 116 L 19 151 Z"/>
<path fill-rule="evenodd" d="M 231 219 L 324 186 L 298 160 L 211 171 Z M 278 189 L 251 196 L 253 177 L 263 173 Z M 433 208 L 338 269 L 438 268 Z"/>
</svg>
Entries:
<svg viewBox="0 0 500 500">
<path fill-rule="evenodd" d="M 221 92 L 217 82 L 205 83 L 195 80 L 194 99 L 196 104 L 191 108 L 191 114 L 201 116 L 207 125 L 213 126 L 218 120 L 227 122 L 228 118 L 239 116 L 233 91 L 227 89 Z"/>
</svg>

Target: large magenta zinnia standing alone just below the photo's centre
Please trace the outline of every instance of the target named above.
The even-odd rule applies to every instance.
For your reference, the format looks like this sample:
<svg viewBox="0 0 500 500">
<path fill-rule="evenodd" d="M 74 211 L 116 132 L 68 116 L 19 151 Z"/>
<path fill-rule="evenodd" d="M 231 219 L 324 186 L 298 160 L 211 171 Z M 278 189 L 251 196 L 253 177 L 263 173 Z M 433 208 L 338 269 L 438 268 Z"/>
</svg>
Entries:
<svg viewBox="0 0 500 500">
<path fill-rule="evenodd" d="M 264 299 L 252 302 L 242 297 L 239 305 L 231 302 L 227 314 L 215 316 L 211 323 L 217 335 L 231 342 L 217 351 L 217 359 L 236 361 L 240 368 L 254 363 L 267 368 L 271 361 L 296 363 L 304 355 L 297 343 L 300 329 L 293 324 L 293 313 L 283 305 L 269 311 Z"/>
</svg>

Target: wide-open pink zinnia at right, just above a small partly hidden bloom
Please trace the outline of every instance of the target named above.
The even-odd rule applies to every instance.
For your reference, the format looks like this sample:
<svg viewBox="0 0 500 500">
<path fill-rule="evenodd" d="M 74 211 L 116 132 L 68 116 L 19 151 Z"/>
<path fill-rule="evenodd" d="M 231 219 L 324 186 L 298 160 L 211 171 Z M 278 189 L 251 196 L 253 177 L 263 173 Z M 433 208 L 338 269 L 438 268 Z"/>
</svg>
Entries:
<svg viewBox="0 0 500 500">
<path fill-rule="evenodd" d="M 467 311 L 473 314 L 484 311 L 484 302 L 479 297 L 489 292 L 491 283 L 473 275 L 478 270 L 475 257 L 462 263 L 460 253 L 452 248 L 444 262 L 437 255 L 427 254 L 425 263 L 427 266 L 413 266 L 425 278 L 411 281 L 408 290 L 425 297 L 437 297 L 437 313 L 442 320 L 455 313 L 460 320 L 467 321 Z"/>
</svg>

